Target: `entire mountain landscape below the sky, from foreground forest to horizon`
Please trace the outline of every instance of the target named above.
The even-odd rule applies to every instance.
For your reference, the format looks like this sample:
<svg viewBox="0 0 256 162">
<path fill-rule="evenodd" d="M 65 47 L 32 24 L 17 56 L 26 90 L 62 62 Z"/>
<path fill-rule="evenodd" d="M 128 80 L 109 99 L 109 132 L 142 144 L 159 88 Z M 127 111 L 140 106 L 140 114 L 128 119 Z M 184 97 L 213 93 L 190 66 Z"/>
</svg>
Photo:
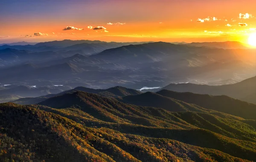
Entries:
<svg viewBox="0 0 256 162">
<path fill-rule="evenodd" d="M 25 44 L 0 46 L 0 162 L 256 161 L 256 49 Z"/>
</svg>

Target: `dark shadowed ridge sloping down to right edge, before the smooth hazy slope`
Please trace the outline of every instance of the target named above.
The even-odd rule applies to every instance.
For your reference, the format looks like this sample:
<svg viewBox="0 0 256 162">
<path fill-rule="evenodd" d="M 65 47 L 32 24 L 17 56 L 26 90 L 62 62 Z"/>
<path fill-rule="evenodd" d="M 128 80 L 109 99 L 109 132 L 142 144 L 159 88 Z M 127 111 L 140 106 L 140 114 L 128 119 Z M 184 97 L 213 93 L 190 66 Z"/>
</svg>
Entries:
<svg viewBox="0 0 256 162">
<path fill-rule="evenodd" d="M 207 109 L 240 116 L 245 119 L 256 119 L 256 104 L 250 104 L 226 95 L 213 96 L 189 92 L 179 93 L 170 90 L 160 90 L 157 94 L 187 103 L 197 104 Z"/>
</svg>

